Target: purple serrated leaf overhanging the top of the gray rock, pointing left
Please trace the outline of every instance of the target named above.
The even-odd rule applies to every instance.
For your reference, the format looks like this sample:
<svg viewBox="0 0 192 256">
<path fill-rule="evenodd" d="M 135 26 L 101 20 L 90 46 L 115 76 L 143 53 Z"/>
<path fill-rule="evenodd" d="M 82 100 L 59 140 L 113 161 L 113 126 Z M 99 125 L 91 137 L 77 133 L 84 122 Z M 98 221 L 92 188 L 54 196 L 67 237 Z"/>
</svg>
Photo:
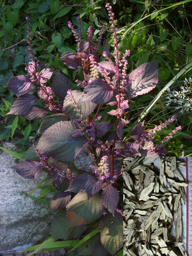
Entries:
<svg viewBox="0 0 192 256">
<path fill-rule="evenodd" d="M 21 163 L 16 164 L 15 166 L 12 166 L 12 168 L 16 170 L 16 172 L 19 175 L 21 175 L 23 178 L 32 179 L 33 177 L 31 175 L 31 170 L 39 166 L 40 166 L 39 162 L 25 160 Z"/>
</svg>

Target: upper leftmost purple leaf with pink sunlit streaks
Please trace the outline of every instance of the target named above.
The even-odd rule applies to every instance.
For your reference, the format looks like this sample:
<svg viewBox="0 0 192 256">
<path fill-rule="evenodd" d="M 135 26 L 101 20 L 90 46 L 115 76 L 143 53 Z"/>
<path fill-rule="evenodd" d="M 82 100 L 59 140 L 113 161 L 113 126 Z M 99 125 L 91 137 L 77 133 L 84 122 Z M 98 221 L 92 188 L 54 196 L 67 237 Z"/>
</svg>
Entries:
<svg viewBox="0 0 192 256">
<path fill-rule="evenodd" d="M 22 94 L 32 94 L 36 88 L 32 85 L 31 79 L 26 75 L 17 75 L 9 79 L 7 88 L 19 96 Z"/>
</svg>

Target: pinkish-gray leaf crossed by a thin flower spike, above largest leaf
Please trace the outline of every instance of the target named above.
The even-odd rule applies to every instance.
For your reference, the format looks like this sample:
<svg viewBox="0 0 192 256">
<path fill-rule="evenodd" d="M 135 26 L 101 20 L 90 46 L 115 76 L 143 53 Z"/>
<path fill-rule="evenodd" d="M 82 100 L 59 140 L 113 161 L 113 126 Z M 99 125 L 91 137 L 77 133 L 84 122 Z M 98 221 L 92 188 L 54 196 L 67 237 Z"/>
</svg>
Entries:
<svg viewBox="0 0 192 256">
<path fill-rule="evenodd" d="M 84 101 L 80 103 L 79 101 L 83 96 L 83 92 L 80 92 L 78 90 L 73 90 L 72 95 L 75 103 L 77 104 L 79 110 L 83 115 L 83 119 L 87 118 L 94 111 L 96 104 L 89 101 Z M 71 95 L 67 95 L 63 103 L 63 112 L 64 114 L 69 115 L 71 120 L 78 119 L 76 115 L 78 115 L 79 112 L 74 111 L 75 106 L 72 106 L 72 104 L 73 101 L 71 99 Z"/>
</svg>

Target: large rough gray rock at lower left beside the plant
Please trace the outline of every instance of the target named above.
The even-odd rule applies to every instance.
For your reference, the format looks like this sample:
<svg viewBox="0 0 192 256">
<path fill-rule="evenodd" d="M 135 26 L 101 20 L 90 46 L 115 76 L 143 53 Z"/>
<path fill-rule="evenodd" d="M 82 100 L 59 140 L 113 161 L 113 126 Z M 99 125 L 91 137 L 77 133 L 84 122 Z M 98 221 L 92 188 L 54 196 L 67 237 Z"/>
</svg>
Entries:
<svg viewBox="0 0 192 256">
<path fill-rule="evenodd" d="M 14 147 L 14 144 L 8 143 Z M 46 222 L 50 222 L 52 216 L 45 217 L 49 213 L 49 206 L 28 199 L 17 191 L 26 191 L 28 194 L 40 181 L 27 180 L 14 171 L 11 166 L 15 165 L 11 155 L 2 152 L 0 154 L 0 253 L 17 253 L 31 247 L 40 241 L 49 231 Z M 40 179 L 45 178 L 42 175 Z M 37 189 L 33 196 L 38 197 L 41 189 Z M 51 200 L 53 193 L 49 193 L 43 199 Z M 35 225 L 40 223 L 35 227 Z M 20 249 L 28 237 L 25 245 Z"/>
</svg>

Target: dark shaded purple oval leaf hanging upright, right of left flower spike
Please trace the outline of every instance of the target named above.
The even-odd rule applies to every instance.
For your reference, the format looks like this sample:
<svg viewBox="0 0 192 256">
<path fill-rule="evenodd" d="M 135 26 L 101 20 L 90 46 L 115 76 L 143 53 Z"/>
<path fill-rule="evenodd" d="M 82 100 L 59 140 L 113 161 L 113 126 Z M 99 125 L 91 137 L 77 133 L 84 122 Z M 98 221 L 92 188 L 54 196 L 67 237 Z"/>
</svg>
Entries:
<svg viewBox="0 0 192 256">
<path fill-rule="evenodd" d="M 59 72 L 54 75 L 51 87 L 53 89 L 53 92 L 58 96 L 58 98 L 60 98 L 62 102 L 65 100 L 67 91 L 71 89 L 69 80 L 66 78 L 65 75 L 62 75 Z"/>
</svg>

